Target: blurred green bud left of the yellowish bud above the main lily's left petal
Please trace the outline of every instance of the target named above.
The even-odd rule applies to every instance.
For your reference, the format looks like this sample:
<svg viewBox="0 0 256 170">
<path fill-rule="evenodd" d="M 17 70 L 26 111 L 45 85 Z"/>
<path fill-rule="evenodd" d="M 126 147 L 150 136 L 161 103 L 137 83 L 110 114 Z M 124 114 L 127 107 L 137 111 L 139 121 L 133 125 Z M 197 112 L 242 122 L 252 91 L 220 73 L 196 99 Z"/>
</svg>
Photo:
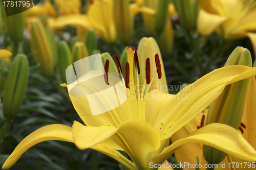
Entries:
<svg viewBox="0 0 256 170">
<path fill-rule="evenodd" d="M 59 41 L 58 43 L 58 64 L 61 79 L 67 82 L 66 69 L 72 64 L 72 55 L 66 41 Z"/>
</svg>

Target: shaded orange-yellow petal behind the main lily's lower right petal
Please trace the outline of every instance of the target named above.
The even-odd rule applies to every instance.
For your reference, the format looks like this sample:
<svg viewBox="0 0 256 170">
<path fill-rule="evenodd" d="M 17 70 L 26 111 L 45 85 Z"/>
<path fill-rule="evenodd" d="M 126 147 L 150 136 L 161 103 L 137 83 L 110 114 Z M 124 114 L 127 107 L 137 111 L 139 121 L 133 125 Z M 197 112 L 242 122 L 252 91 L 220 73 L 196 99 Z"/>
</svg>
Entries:
<svg viewBox="0 0 256 170">
<path fill-rule="evenodd" d="M 200 126 L 201 119 L 204 113 L 200 113 L 197 117 L 187 123 L 184 127 L 174 133 L 171 137 L 172 142 L 175 142 L 179 139 L 185 138 L 190 133 L 193 133 L 197 130 L 197 126 Z M 199 157 L 199 162 L 201 162 L 203 155 L 203 145 L 201 143 L 189 143 L 180 147 L 175 151 L 175 158 L 179 163 L 189 162 L 191 164 L 197 163 L 197 156 Z M 186 166 L 184 170 L 189 170 Z"/>
</svg>

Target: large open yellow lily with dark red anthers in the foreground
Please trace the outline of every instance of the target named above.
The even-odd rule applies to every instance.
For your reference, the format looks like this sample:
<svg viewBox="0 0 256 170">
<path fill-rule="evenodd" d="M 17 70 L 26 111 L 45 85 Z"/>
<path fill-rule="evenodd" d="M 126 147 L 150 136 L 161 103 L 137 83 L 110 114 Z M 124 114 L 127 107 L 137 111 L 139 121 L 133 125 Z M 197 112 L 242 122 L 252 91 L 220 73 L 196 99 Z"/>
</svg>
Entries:
<svg viewBox="0 0 256 170">
<path fill-rule="evenodd" d="M 226 85 L 256 76 L 256 68 L 226 66 L 216 69 L 191 84 L 189 87 L 193 87 L 193 90 L 188 90 L 189 87 L 187 87 L 183 88 L 177 95 L 171 95 L 159 90 L 148 92 L 154 78 L 150 79 L 150 59 L 146 59 L 144 84 L 147 83 L 147 86 L 142 90 L 144 95 L 138 95 L 139 90 L 136 93 L 134 84 L 134 77 L 138 78 L 139 72 L 137 71 L 139 70 L 139 63 L 136 54 L 134 47 L 127 48 L 128 62 L 125 64 L 127 100 L 123 104 L 93 116 L 88 101 L 89 94 L 85 95 L 85 91 L 79 92 L 79 96 L 70 94 L 74 108 L 87 126 L 74 121 L 72 127 L 65 125 L 42 127 L 18 144 L 4 163 L 3 168 L 10 168 L 26 150 L 46 140 L 74 142 L 81 150 L 91 148 L 102 152 L 129 169 L 157 169 L 155 164 L 162 164 L 178 148 L 187 143 L 203 143 L 240 159 L 256 161 L 255 150 L 240 133 L 223 124 L 207 125 L 168 146 L 170 136 L 217 99 Z M 135 72 L 133 71 L 134 58 Z M 118 68 L 120 68 L 119 59 L 116 56 L 115 59 Z M 106 74 L 108 74 L 108 63 L 110 62 L 105 62 L 104 67 Z M 159 63 L 159 58 L 156 57 L 158 69 L 154 75 L 158 74 L 158 78 L 161 78 Z M 79 80 L 97 76 L 102 72 L 90 71 L 86 75 L 79 76 Z M 67 86 L 70 92 L 76 82 L 63 86 Z M 108 76 L 106 76 L 105 82 L 109 83 Z M 103 81 L 103 83 L 105 82 Z M 98 90 L 95 86 L 87 86 L 83 87 Z M 81 96 L 81 93 L 84 95 Z M 140 97 L 137 99 L 136 96 Z M 181 99 L 182 96 L 183 99 Z M 109 100 L 109 95 L 97 102 L 101 101 L 108 103 L 106 104 L 108 106 L 112 106 L 114 102 Z M 98 110 L 100 111 L 102 108 L 98 107 Z M 236 149 L 234 150 L 234 148 Z M 125 151 L 133 162 L 126 159 L 118 150 Z"/>
</svg>

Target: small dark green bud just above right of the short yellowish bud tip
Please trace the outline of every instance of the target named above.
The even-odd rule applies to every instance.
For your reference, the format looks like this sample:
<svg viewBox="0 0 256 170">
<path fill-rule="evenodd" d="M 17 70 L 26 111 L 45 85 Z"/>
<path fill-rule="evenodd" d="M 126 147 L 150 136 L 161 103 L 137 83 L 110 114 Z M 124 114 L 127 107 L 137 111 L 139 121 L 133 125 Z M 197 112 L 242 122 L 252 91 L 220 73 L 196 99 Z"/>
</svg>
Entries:
<svg viewBox="0 0 256 170">
<path fill-rule="evenodd" d="M 86 44 L 89 55 L 92 55 L 93 50 L 96 50 L 98 46 L 97 38 L 93 30 L 86 31 L 83 42 Z"/>
</svg>

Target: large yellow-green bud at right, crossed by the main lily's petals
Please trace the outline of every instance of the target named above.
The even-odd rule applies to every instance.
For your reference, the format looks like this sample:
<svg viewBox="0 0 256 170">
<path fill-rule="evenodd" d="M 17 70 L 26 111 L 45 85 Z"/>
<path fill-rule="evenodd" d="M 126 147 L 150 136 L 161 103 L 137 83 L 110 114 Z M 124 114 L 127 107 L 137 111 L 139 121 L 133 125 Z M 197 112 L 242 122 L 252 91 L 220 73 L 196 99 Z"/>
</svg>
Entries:
<svg viewBox="0 0 256 170">
<path fill-rule="evenodd" d="M 227 65 L 246 65 L 251 67 L 251 54 L 243 47 L 237 47 L 229 56 Z M 210 123 L 226 124 L 234 129 L 239 129 L 245 108 L 249 79 L 232 83 L 225 87 L 219 98 L 209 107 L 206 125 Z M 203 146 L 205 160 L 212 163 L 220 163 L 226 153 L 215 148 Z"/>
</svg>

